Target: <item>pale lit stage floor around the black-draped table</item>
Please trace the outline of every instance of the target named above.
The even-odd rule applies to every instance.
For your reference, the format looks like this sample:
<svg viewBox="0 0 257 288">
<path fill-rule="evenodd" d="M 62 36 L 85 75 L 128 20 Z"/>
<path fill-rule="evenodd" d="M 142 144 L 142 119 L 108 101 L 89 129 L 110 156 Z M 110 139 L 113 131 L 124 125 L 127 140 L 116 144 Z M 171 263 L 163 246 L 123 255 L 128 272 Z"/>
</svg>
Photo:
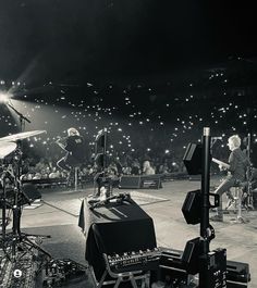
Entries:
<svg viewBox="0 0 257 288">
<path fill-rule="evenodd" d="M 211 186 L 218 183 L 218 178 L 211 179 Z M 137 197 L 145 195 L 148 200 L 142 202 L 142 208 L 154 220 L 158 246 L 183 250 L 187 240 L 199 236 L 199 225 L 187 225 L 181 208 L 186 193 L 200 188 L 200 181 L 174 180 L 166 181 L 162 186 L 163 188 L 158 190 L 114 189 L 114 192 L 134 191 Z M 77 222 L 81 200 L 90 195 L 93 188 L 88 187 L 79 191 L 42 189 L 41 192 L 44 204 L 34 210 L 23 211 L 22 230 L 54 234 L 54 227 L 59 230 L 63 227 L 63 233 L 54 235 L 51 240 L 51 246 L 48 247 L 50 252 L 54 256 L 70 258 L 83 263 L 85 243 Z M 257 287 L 257 211 L 243 211 L 243 216 L 249 220 L 246 224 L 231 222 L 230 220 L 234 216 L 233 213 L 228 214 L 224 215 L 223 223 L 211 223 L 216 230 L 216 238 L 211 241 L 210 248 L 211 250 L 225 248 L 228 260 L 248 263 L 252 274 L 248 287 L 255 288 Z M 64 233 L 68 227 L 73 229 L 72 240 L 69 238 L 69 233 Z"/>
</svg>

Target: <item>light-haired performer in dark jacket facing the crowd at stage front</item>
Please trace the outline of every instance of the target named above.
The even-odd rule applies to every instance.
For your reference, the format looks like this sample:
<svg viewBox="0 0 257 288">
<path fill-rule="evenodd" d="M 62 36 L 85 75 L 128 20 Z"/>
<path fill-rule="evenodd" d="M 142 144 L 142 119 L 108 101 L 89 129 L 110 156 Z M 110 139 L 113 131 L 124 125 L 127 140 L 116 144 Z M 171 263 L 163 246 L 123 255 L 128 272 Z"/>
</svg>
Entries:
<svg viewBox="0 0 257 288">
<path fill-rule="evenodd" d="M 85 162 L 85 143 L 83 137 L 75 128 L 68 129 L 68 137 L 57 140 L 57 143 L 66 151 L 65 156 L 57 162 L 57 165 L 65 171 L 71 171 L 72 166 Z"/>
</svg>

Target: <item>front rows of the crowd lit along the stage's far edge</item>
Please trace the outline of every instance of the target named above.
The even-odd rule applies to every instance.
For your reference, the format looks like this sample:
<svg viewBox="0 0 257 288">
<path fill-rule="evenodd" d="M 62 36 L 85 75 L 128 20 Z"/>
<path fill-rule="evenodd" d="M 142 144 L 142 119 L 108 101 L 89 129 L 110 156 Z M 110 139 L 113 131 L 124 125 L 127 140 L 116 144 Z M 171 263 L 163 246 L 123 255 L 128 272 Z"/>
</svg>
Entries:
<svg viewBox="0 0 257 288">
<path fill-rule="evenodd" d="M 185 172 L 183 163 L 178 165 L 175 162 L 171 162 L 171 159 L 164 159 L 163 162 L 160 159 L 131 159 L 124 158 L 121 161 L 119 158 L 109 159 L 106 167 L 106 175 L 120 177 L 122 175 L 151 175 L 162 174 L 169 175 L 171 173 Z M 40 158 L 35 163 L 34 158 L 26 158 L 22 165 L 23 180 L 38 180 L 38 179 L 60 179 L 68 178 L 69 172 L 61 170 L 57 166 L 57 161 L 51 158 Z M 96 173 L 99 172 L 99 166 L 91 159 L 88 163 L 83 163 L 79 168 L 79 177 L 84 179 L 91 179 Z"/>
</svg>

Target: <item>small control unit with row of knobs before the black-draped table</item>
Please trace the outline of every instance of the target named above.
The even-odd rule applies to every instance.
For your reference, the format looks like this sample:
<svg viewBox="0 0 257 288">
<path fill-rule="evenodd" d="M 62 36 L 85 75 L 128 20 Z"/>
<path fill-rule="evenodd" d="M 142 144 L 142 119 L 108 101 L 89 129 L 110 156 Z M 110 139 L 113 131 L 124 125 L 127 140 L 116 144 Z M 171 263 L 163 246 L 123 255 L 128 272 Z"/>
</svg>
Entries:
<svg viewBox="0 0 257 288">
<path fill-rule="evenodd" d="M 105 254 L 103 259 L 112 273 L 151 271 L 159 266 L 160 252 L 156 249 L 132 251 L 122 254 Z"/>
</svg>

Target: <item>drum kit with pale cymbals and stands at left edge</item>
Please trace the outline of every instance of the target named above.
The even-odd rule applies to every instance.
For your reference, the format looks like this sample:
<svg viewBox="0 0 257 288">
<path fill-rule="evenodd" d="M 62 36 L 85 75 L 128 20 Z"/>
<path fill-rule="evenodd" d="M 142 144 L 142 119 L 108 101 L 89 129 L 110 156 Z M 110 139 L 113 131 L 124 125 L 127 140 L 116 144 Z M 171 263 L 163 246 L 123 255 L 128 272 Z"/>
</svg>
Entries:
<svg viewBox="0 0 257 288">
<path fill-rule="evenodd" d="M 23 132 L 0 138 L 0 209 L 2 210 L 0 250 L 2 249 L 5 256 L 14 262 L 19 260 L 17 254 L 21 250 L 21 243 L 23 247 L 24 243 L 26 243 L 26 246 L 40 250 L 50 256 L 48 252 L 29 240 L 27 234 L 21 231 L 22 205 L 24 203 L 29 204 L 29 202 L 26 202 L 26 195 L 23 192 L 21 181 L 22 140 L 44 133 L 46 133 L 46 130 Z M 7 159 L 11 159 L 11 161 Z M 10 192 L 10 190 L 12 199 L 10 199 L 10 195 L 7 193 Z M 7 226 L 9 224 L 7 210 L 12 210 L 13 225 L 11 233 L 7 233 Z M 40 237 L 49 238 L 50 236 Z"/>
</svg>

